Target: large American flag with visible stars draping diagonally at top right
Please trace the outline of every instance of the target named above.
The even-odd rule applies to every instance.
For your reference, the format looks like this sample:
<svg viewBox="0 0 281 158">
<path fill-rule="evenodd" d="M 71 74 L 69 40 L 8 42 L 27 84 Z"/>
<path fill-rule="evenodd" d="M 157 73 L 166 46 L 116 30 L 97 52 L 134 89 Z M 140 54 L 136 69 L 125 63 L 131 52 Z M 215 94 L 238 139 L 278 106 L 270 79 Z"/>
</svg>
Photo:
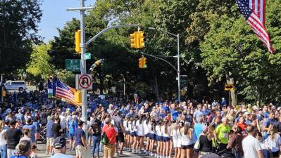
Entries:
<svg viewBox="0 0 281 158">
<path fill-rule="evenodd" d="M 251 8 L 249 8 L 249 0 L 235 0 L 235 2 L 238 5 L 242 15 L 244 15 L 246 21 L 251 26 L 251 29 L 256 33 L 256 35 L 258 35 L 258 38 L 261 39 L 261 41 L 263 41 L 263 43 L 268 47 L 268 51 L 270 51 L 270 53 L 273 53 L 274 49 L 270 44 L 268 32 L 266 31 L 266 27 L 263 25 L 264 15 L 263 22 L 261 22 L 260 18 L 258 18 L 258 15 L 254 11 L 252 11 Z"/>
</svg>

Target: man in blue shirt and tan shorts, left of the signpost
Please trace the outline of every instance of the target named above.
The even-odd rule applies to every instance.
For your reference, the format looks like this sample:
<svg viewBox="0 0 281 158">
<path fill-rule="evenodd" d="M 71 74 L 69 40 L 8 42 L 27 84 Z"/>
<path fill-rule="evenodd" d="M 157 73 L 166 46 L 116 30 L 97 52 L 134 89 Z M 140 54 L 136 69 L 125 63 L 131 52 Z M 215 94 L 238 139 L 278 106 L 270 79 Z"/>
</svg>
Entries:
<svg viewBox="0 0 281 158">
<path fill-rule="evenodd" d="M 46 124 L 46 154 L 51 154 L 53 151 L 54 144 L 54 131 L 53 131 L 53 117 L 48 118 L 48 123 Z"/>
</svg>

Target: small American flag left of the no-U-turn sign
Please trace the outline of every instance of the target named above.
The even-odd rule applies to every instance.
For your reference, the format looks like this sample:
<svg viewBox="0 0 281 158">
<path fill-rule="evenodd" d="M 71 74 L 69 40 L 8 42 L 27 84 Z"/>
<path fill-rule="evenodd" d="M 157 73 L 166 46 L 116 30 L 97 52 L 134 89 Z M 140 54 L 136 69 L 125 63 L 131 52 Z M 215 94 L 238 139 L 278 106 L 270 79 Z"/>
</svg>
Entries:
<svg viewBox="0 0 281 158">
<path fill-rule="evenodd" d="M 73 91 L 71 91 L 70 87 L 63 84 L 63 82 L 60 81 L 59 79 L 56 83 L 57 83 L 56 97 L 66 98 L 66 99 L 74 102 L 74 94 L 73 94 Z"/>
</svg>

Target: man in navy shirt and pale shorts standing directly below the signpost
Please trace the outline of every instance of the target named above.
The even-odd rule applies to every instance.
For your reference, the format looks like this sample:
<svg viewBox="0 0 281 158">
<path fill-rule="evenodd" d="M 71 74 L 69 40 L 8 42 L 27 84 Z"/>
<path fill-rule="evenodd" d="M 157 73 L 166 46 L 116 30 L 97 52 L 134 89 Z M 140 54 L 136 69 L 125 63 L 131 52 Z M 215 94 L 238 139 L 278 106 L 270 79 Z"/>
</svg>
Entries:
<svg viewBox="0 0 281 158">
<path fill-rule="evenodd" d="M 82 129 L 83 124 L 84 124 L 84 122 L 79 120 L 78 121 L 78 128 L 77 128 L 77 131 L 75 132 L 76 158 L 82 158 L 83 154 L 87 150 L 86 136 L 85 136 L 85 132 Z"/>
</svg>

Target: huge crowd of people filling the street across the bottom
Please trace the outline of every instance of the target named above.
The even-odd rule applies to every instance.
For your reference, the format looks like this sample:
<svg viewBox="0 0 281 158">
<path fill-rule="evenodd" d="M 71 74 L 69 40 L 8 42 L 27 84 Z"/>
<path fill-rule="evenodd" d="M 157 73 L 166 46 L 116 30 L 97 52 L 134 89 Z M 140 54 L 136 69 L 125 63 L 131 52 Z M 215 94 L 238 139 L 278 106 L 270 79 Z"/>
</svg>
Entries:
<svg viewBox="0 0 281 158">
<path fill-rule="evenodd" d="M 224 98 L 211 104 L 193 100 L 136 103 L 88 96 L 87 120 L 82 120 L 80 107 L 54 103 L 44 93 L 27 96 L 20 101 L 10 97 L 2 108 L 2 158 L 37 157 L 37 140 L 44 129 L 46 154 L 52 158 L 69 157 L 66 150 L 75 150 L 76 158 L 82 158 L 86 150 L 92 151 L 93 158 L 101 152 L 104 157 L 123 152 L 157 158 L 280 157 L 279 105 L 230 106 Z"/>
</svg>

